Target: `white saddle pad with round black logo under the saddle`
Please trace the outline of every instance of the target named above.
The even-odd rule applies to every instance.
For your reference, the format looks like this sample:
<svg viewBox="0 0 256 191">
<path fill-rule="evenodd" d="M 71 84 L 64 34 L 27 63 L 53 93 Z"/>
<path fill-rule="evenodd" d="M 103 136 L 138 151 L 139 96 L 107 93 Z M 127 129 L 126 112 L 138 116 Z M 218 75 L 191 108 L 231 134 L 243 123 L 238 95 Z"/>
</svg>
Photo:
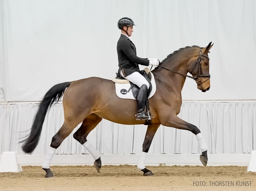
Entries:
<svg viewBox="0 0 256 191">
<path fill-rule="evenodd" d="M 148 98 L 152 97 L 156 91 L 154 75 L 151 72 L 150 72 L 150 74 L 151 74 L 152 90 L 151 90 L 151 93 L 149 94 Z M 128 92 L 128 90 L 131 87 L 130 83 L 127 83 L 127 84 L 115 83 L 115 84 L 116 84 L 116 95 L 118 97 L 120 97 L 122 99 L 136 99 L 132 94 L 132 90 L 130 90 Z"/>
</svg>

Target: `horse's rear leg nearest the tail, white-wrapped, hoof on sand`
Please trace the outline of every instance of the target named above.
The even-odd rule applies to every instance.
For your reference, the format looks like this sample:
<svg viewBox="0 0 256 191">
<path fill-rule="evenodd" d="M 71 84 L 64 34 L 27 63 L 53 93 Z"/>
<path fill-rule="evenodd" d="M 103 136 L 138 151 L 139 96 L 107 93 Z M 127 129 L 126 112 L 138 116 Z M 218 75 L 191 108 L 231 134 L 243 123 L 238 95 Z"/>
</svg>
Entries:
<svg viewBox="0 0 256 191">
<path fill-rule="evenodd" d="M 44 156 L 42 168 L 45 170 L 45 178 L 53 177 L 53 173 L 50 170 L 50 163 L 56 149 L 62 143 L 62 141 L 72 132 L 76 125 L 70 125 L 66 122 L 63 123 L 58 132 L 52 137 L 50 147 Z"/>
</svg>

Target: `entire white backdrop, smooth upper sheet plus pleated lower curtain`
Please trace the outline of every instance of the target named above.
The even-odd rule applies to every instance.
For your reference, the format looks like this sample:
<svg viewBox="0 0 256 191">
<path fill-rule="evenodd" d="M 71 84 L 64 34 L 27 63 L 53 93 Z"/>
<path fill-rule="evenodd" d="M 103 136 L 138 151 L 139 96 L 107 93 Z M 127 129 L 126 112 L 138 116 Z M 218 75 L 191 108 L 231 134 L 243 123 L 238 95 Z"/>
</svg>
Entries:
<svg viewBox="0 0 256 191">
<path fill-rule="evenodd" d="M 214 43 L 211 89 L 202 93 L 187 79 L 179 116 L 201 129 L 209 153 L 251 152 L 256 149 L 255 10 L 254 0 L 0 0 L 0 152 L 23 153 L 18 142 L 29 132 L 34 102 L 53 85 L 115 76 L 122 17 L 137 25 L 131 38 L 142 58 L 161 61 L 179 48 Z M 57 103 L 33 154 L 45 154 L 62 122 Z M 144 125 L 103 120 L 88 139 L 104 154 L 140 153 L 145 131 Z M 57 153 L 88 152 L 70 135 Z M 149 153 L 200 150 L 191 132 L 161 126 Z"/>
</svg>

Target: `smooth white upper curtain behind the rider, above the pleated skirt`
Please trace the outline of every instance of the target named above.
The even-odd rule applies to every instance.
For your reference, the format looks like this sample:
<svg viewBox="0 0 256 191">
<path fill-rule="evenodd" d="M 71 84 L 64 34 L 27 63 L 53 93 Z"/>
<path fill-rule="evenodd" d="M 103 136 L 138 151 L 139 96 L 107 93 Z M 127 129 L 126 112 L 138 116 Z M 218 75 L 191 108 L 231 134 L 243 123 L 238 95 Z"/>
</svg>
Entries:
<svg viewBox="0 0 256 191">
<path fill-rule="evenodd" d="M 2 87 L 6 101 L 40 100 L 50 87 L 65 81 L 91 76 L 112 79 L 118 70 L 117 21 L 122 17 L 137 25 L 132 40 L 142 58 L 163 60 L 179 48 L 205 47 L 213 41 L 211 90 L 203 94 L 189 79 L 184 100 L 255 99 L 254 0 L 0 2 L 6 57 L 0 88 L 6 84 Z"/>
</svg>

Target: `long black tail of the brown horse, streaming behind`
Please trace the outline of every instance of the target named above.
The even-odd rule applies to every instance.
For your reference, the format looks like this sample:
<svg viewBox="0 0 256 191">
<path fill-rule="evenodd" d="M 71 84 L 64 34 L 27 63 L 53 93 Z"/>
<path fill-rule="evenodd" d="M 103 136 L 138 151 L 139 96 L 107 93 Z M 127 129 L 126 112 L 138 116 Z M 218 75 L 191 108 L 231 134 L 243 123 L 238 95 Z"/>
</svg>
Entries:
<svg viewBox="0 0 256 191">
<path fill-rule="evenodd" d="M 52 106 L 54 101 L 58 102 L 61 96 L 64 94 L 66 88 L 70 86 L 71 82 L 64 82 L 53 86 L 43 97 L 39 104 L 39 108 L 34 118 L 34 122 L 31 127 L 31 132 L 22 145 L 22 150 L 25 153 L 31 153 L 36 148 L 43 126 L 43 121 L 48 108 Z"/>
</svg>

